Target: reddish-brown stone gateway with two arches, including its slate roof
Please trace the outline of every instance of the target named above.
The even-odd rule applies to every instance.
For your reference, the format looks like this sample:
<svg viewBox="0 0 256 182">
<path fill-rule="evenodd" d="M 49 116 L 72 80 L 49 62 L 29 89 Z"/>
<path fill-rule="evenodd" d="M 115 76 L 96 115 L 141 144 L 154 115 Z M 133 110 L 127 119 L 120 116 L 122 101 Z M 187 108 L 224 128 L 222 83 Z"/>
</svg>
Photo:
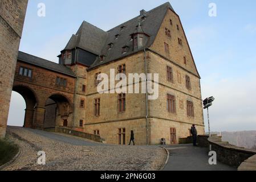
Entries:
<svg viewBox="0 0 256 182">
<path fill-rule="evenodd" d="M 71 69 L 19 52 L 13 90 L 26 102 L 24 127 L 72 127 L 74 88 Z"/>
</svg>

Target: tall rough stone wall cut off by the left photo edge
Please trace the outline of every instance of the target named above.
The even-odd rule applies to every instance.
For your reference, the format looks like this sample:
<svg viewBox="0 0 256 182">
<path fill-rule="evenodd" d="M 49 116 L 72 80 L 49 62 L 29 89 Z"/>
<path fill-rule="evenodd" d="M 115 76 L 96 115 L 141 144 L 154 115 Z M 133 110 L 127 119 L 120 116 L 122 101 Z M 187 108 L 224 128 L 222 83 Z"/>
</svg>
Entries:
<svg viewBox="0 0 256 182">
<path fill-rule="evenodd" d="M 0 138 L 5 137 L 26 8 L 27 0 L 0 1 Z"/>
</svg>

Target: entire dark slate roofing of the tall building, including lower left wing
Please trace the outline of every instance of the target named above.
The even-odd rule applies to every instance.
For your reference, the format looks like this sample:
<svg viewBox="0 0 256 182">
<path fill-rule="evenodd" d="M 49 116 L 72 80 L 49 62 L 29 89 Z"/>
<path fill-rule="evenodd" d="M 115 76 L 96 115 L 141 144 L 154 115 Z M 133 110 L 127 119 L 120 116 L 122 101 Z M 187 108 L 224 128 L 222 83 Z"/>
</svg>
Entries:
<svg viewBox="0 0 256 182">
<path fill-rule="evenodd" d="M 132 53 L 141 51 L 153 44 L 168 9 L 173 10 L 170 3 L 166 2 L 150 11 L 143 10 L 141 11 L 143 14 L 136 16 L 135 18 L 112 28 L 107 32 L 92 26 L 90 23 L 83 22 L 76 35 L 72 35 L 65 49 L 79 47 L 86 51 L 95 53 L 96 55 L 105 56 L 103 61 L 100 58 L 97 58 L 91 65 L 90 69 L 109 63 L 121 57 L 131 55 Z M 145 17 L 144 21 L 142 21 L 143 17 Z M 139 21 L 141 26 L 139 26 Z M 145 44 L 145 47 L 139 50 L 133 50 L 131 35 L 138 31 L 144 32 L 150 37 L 148 42 Z M 119 35 L 118 39 L 116 39 L 116 35 Z M 110 43 L 113 43 L 113 47 L 108 49 L 108 44 Z M 128 51 L 123 54 L 122 48 L 125 46 L 128 47 Z"/>
</svg>

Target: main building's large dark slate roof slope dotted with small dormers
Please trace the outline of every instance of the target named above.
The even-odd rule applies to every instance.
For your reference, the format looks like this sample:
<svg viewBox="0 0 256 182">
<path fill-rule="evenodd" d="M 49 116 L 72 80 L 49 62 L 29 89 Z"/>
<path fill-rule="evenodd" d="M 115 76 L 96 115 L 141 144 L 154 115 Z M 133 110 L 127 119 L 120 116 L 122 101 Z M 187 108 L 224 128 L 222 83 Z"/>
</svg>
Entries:
<svg viewBox="0 0 256 182">
<path fill-rule="evenodd" d="M 153 44 L 157 33 L 159 32 L 162 20 L 164 20 L 166 12 L 169 8 L 173 10 L 169 2 L 164 3 L 163 5 L 156 7 L 155 9 L 152 9 L 148 12 L 144 11 L 143 15 L 136 16 L 128 22 L 120 24 L 119 26 L 109 30 L 107 41 L 105 41 L 105 44 L 101 50 L 101 55 L 105 55 L 105 59 L 104 61 L 97 59 L 95 63 L 91 65 L 90 69 L 95 68 L 99 65 L 109 63 L 121 57 L 131 55 L 132 53 L 141 51 L 141 49 L 150 47 Z M 144 21 L 141 21 L 141 16 L 145 17 Z M 138 26 L 139 21 L 141 22 Z M 121 27 L 124 28 L 121 29 Z M 145 47 L 139 50 L 133 50 L 131 35 L 137 31 L 144 32 L 150 37 L 148 42 L 145 44 Z M 118 39 L 115 39 L 115 35 L 117 34 L 119 34 L 120 36 Z M 108 50 L 109 43 L 113 43 L 113 48 Z M 122 47 L 124 46 L 128 46 L 129 49 L 126 53 L 123 54 Z"/>
</svg>

